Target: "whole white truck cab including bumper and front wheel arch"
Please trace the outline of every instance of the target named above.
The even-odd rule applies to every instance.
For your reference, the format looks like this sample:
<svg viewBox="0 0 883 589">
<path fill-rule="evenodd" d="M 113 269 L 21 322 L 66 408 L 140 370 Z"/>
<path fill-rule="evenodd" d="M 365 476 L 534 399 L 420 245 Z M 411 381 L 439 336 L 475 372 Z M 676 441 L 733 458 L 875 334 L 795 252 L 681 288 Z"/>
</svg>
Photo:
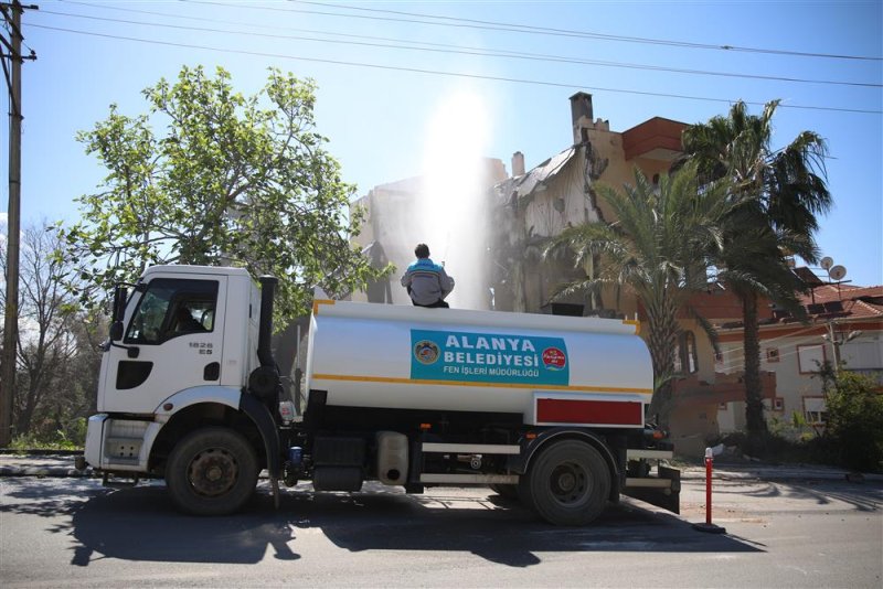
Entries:
<svg viewBox="0 0 883 589">
<path fill-rule="evenodd" d="M 275 439 L 266 430 L 278 399 L 243 398 L 260 368 L 260 304 L 241 268 L 153 266 L 131 291 L 119 287 L 86 462 L 105 473 L 164 474 L 178 441 L 206 425 L 232 427 L 258 449 Z M 267 452 L 257 454 L 266 463 Z"/>
</svg>

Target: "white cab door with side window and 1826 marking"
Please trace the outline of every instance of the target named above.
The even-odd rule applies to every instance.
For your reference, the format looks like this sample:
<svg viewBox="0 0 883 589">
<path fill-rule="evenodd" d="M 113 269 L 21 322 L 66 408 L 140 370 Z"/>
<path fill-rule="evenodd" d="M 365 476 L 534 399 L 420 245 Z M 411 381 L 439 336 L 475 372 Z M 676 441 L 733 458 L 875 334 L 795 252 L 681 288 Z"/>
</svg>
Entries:
<svg viewBox="0 0 883 589">
<path fill-rule="evenodd" d="M 150 414 L 179 390 L 219 384 L 226 286 L 213 275 L 158 276 L 139 287 L 124 338 L 107 352 L 100 410 Z"/>
</svg>

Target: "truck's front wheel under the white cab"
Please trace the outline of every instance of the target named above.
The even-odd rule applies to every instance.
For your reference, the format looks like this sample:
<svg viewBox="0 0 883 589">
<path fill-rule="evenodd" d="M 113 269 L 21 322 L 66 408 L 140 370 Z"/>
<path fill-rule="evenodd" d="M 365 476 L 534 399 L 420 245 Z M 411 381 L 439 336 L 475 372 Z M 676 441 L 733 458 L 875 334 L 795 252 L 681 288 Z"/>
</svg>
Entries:
<svg viewBox="0 0 883 589">
<path fill-rule="evenodd" d="M 204 428 L 174 447 L 166 465 L 166 485 L 181 511 L 225 515 L 248 501 L 257 473 L 257 456 L 241 433 Z"/>
</svg>

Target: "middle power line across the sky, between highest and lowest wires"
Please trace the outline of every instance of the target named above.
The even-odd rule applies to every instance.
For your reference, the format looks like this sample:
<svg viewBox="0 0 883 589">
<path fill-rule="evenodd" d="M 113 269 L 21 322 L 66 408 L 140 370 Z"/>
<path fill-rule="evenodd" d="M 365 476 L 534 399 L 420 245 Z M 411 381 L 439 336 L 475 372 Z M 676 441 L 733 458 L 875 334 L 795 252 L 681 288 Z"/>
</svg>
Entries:
<svg viewBox="0 0 883 589">
<path fill-rule="evenodd" d="M 94 6 L 88 4 L 85 2 L 72 2 L 83 6 Z M 168 14 L 168 13 L 159 13 L 152 11 L 142 11 L 142 10 L 135 10 L 135 9 L 120 9 L 116 7 L 108 7 L 115 10 L 124 10 L 128 12 L 137 12 L 137 13 L 147 13 L 151 15 L 158 17 L 166 17 L 166 18 L 179 18 L 175 14 Z M 550 54 L 536 54 L 536 53 L 524 53 L 524 52 L 512 52 L 512 51 L 488 51 L 482 50 L 480 47 L 469 47 L 469 46 L 458 46 L 458 45 L 448 45 L 448 44 L 440 44 L 440 43 L 422 43 L 425 45 L 432 45 L 430 47 L 419 47 L 419 46 L 407 46 L 407 45 L 398 45 L 398 44 L 387 44 L 387 43 L 373 43 L 373 42 L 364 42 L 364 41 L 338 41 L 332 39 L 317 39 L 317 38 L 307 38 L 307 36 L 294 36 L 294 35 L 277 35 L 270 33 L 256 33 L 251 31 L 231 31 L 231 30 L 220 30 L 220 29 L 209 29 L 202 26 L 188 26 L 182 24 L 170 24 L 170 23 L 157 23 L 157 22 L 143 22 L 143 21 L 132 21 L 132 20 L 125 20 L 125 19 L 113 19 L 107 17 L 94 17 L 89 14 L 75 14 L 70 12 L 57 12 L 53 10 L 44 10 L 43 13 L 45 14 L 55 14 L 60 17 L 72 17 L 77 19 L 87 19 L 87 20 L 97 20 L 97 21 L 106 21 L 106 22 L 119 22 L 126 24 L 138 24 L 138 25 L 146 25 L 146 26 L 159 26 L 163 29 L 177 29 L 177 30 L 187 30 L 187 31 L 202 31 L 202 32 L 210 32 L 210 33 L 224 33 L 224 34 L 240 34 L 240 35 L 249 35 L 249 36 L 258 36 L 265 39 L 285 39 L 285 40 L 297 40 L 297 41 L 309 41 L 309 42 L 317 42 L 317 43 L 334 43 L 334 44 L 342 44 L 342 45 L 361 45 L 361 46 L 373 46 L 373 47 L 383 47 L 383 49 L 396 49 L 396 50 L 407 50 L 407 51 L 423 51 L 423 52 L 433 52 L 433 53 L 448 53 L 448 54 L 459 54 L 459 55 L 478 55 L 485 57 L 503 57 L 503 58 L 514 58 L 514 60 L 528 60 L 528 61 L 540 61 L 540 62 L 558 62 L 558 63 L 571 63 L 571 64 L 578 64 L 578 65 L 596 65 L 602 67 L 623 67 L 629 69 L 645 69 L 645 71 L 653 71 L 653 72 L 670 72 L 675 74 L 688 74 L 688 75 L 705 75 L 705 76 L 719 76 L 719 77 L 734 77 L 734 78 L 748 78 L 748 79 L 765 79 L 772 82 L 789 82 L 789 83 L 804 83 L 804 84 L 823 84 L 823 85 L 839 85 L 839 86 L 859 86 L 859 87 L 872 87 L 872 88 L 880 88 L 883 87 L 883 84 L 874 84 L 874 83 L 865 83 L 865 82 L 839 82 L 839 81 L 827 81 L 827 79 L 806 79 L 806 78 L 794 78 L 794 77 L 784 77 L 784 76 L 765 76 L 758 74 L 735 74 L 728 72 L 712 72 L 712 71 L 704 71 L 704 69 L 687 69 L 687 68 L 675 68 L 675 67 L 664 67 L 664 66 L 657 66 L 657 65 L 647 65 L 647 64 L 635 64 L 635 63 L 624 63 L 624 62 L 608 62 L 608 61 L 598 61 L 598 60 L 579 60 L 575 57 L 566 57 L 562 55 L 550 55 Z M 189 17 L 190 20 L 199 20 L 203 22 L 219 22 L 224 24 L 243 24 L 243 23 L 233 23 L 231 21 L 220 21 L 214 19 L 199 19 Z M 412 41 L 406 40 L 396 40 L 396 39 L 389 39 L 389 38 L 376 38 L 376 36 L 369 36 L 369 35 L 351 35 L 344 33 L 330 33 L 326 31 L 315 31 L 315 30 L 302 30 L 302 29 L 294 29 L 295 31 L 299 32 L 311 32 L 318 34 L 329 34 L 329 35 L 337 35 L 343 36 L 347 39 L 368 39 L 372 41 L 384 41 L 391 43 L 413 43 Z M 437 47 L 437 49 L 436 49 Z"/>
</svg>

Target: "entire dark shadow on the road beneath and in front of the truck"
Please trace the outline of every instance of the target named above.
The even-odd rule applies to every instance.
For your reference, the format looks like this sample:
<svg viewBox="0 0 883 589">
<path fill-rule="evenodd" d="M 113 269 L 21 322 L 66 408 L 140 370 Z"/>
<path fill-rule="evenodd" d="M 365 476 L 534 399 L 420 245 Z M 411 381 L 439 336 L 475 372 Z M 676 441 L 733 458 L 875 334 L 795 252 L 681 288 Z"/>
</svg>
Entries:
<svg viewBox="0 0 883 589">
<path fill-rule="evenodd" d="M 7 513 L 57 516 L 70 522 L 51 532 L 75 540 L 71 563 L 88 566 L 100 558 L 170 563 L 255 564 L 300 558 L 298 536 L 320 531 L 340 548 L 362 550 L 467 551 L 511 567 L 541 561 L 541 553 L 746 553 L 756 545 L 728 536 L 709 536 L 673 516 L 631 502 L 611 505 L 593 525 L 562 528 L 539 521 L 517 502 L 497 495 L 436 490 L 405 495 L 381 485 L 370 492 L 313 493 L 300 485 L 284 492 L 279 511 L 265 484 L 247 508 L 226 517 L 193 517 L 175 512 L 164 488 L 152 483 L 108 490 L 94 481 L 81 489 L 53 486 L 26 501 L 0 506 Z"/>
</svg>

